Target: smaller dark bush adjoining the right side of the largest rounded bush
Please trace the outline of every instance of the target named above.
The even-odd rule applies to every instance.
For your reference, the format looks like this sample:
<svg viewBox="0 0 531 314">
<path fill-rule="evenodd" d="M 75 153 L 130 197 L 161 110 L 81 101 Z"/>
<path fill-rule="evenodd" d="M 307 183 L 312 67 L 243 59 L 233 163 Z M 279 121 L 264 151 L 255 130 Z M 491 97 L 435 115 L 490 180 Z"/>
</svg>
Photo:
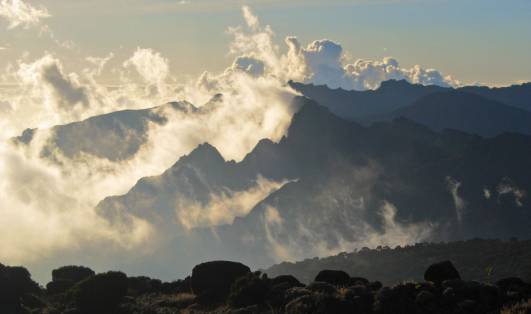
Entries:
<svg viewBox="0 0 531 314">
<path fill-rule="evenodd" d="M 264 304 L 271 292 L 271 281 L 260 272 L 249 273 L 232 284 L 228 303 L 234 307 Z"/>
</svg>

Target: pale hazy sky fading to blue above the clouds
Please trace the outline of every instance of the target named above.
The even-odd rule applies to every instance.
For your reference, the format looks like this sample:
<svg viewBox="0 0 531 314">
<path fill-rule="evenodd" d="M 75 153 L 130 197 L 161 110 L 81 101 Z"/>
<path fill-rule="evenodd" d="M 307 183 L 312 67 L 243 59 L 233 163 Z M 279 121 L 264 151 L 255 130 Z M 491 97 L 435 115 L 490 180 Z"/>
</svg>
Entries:
<svg viewBox="0 0 531 314">
<path fill-rule="evenodd" d="M 11 0 L 9 0 L 11 1 Z M 8 1 L 8 2 L 9 2 Z M 4 0 L 5 2 L 5 0 Z M 56 54 L 70 71 L 87 56 L 120 64 L 137 47 L 159 51 L 177 80 L 232 62 L 227 28 L 242 23 L 250 5 L 275 42 L 297 36 L 340 43 L 347 59 L 391 56 L 402 66 L 435 68 L 466 84 L 507 85 L 531 80 L 531 1 L 528 0 L 31 0 L 46 10 L 49 31 L 0 20 L 0 68 L 25 56 Z M 50 34 L 53 33 L 53 39 Z M 102 75 L 117 82 L 110 70 Z"/>
</svg>

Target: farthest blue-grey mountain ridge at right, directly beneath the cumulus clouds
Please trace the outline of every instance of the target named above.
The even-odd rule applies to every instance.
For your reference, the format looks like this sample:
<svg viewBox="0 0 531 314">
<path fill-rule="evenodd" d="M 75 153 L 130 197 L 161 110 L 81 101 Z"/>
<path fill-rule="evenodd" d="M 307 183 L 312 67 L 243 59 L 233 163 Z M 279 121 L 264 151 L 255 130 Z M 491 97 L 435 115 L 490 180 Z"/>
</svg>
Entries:
<svg viewBox="0 0 531 314">
<path fill-rule="evenodd" d="M 400 116 L 434 130 L 454 128 L 481 136 L 531 134 L 531 83 L 458 89 L 385 81 L 374 91 L 345 91 L 290 82 L 336 115 L 370 124 Z"/>
</svg>

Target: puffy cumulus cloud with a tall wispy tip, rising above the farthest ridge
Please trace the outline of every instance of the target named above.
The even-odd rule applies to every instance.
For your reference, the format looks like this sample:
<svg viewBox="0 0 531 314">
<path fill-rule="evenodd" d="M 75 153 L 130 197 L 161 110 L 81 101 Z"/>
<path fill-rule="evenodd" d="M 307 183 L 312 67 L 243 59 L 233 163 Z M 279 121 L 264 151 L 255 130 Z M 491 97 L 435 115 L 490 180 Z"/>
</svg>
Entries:
<svg viewBox="0 0 531 314">
<path fill-rule="evenodd" d="M 349 62 L 341 44 L 330 39 L 315 40 L 303 47 L 296 37 L 289 36 L 284 40 L 288 50 L 282 53 L 274 43 L 272 28 L 269 25 L 262 26 L 249 7 L 244 6 L 242 11 L 247 29 L 229 29 L 234 36 L 231 52 L 236 56 L 245 56 L 241 60 L 245 61 L 244 66 L 234 69 L 256 75 L 255 65 L 259 65 L 259 73 L 280 80 L 346 90 L 377 89 L 383 81 L 402 79 L 422 85 L 460 85 L 459 81 L 435 69 L 425 69 L 420 65 L 404 68 L 391 57 L 381 61 L 357 59 Z"/>
</svg>

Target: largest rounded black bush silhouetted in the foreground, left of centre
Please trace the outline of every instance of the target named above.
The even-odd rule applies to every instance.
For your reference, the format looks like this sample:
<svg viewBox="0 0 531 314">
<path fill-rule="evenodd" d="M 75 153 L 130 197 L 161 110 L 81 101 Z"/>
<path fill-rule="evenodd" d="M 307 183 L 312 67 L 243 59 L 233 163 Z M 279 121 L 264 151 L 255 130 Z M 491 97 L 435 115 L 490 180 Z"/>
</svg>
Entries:
<svg viewBox="0 0 531 314">
<path fill-rule="evenodd" d="M 236 279 L 251 272 L 242 263 L 213 261 L 199 264 L 192 270 L 192 291 L 201 303 L 223 301 Z"/>
</svg>

